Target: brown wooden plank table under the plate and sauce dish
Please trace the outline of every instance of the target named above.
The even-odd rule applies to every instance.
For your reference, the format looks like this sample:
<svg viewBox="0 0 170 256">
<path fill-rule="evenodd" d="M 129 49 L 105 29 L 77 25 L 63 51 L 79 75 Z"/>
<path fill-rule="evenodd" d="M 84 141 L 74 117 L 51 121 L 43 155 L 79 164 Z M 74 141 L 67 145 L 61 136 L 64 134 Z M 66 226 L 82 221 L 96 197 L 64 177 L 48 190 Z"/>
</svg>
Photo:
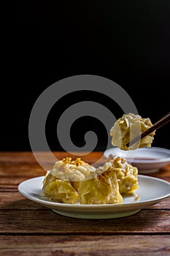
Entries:
<svg viewBox="0 0 170 256">
<path fill-rule="evenodd" d="M 82 159 L 91 164 L 102 154 Z M 170 198 L 130 217 L 74 219 L 19 194 L 20 182 L 43 175 L 31 152 L 0 152 L 0 255 L 170 255 Z M 150 176 L 170 181 L 170 166 Z"/>
</svg>

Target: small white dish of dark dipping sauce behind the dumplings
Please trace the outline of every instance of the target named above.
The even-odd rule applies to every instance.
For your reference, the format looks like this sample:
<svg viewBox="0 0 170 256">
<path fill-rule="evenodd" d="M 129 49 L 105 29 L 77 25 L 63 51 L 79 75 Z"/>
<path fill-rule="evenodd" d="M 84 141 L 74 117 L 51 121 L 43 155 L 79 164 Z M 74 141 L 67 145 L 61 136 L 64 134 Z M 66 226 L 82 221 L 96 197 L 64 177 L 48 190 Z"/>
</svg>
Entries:
<svg viewBox="0 0 170 256">
<path fill-rule="evenodd" d="M 151 147 L 123 151 L 114 147 L 104 151 L 104 157 L 108 157 L 109 154 L 127 159 L 131 165 L 138 167 L 139 173 L 155 173 L 170 164 L 170 150 L 166 148 Z"/>
</svg>

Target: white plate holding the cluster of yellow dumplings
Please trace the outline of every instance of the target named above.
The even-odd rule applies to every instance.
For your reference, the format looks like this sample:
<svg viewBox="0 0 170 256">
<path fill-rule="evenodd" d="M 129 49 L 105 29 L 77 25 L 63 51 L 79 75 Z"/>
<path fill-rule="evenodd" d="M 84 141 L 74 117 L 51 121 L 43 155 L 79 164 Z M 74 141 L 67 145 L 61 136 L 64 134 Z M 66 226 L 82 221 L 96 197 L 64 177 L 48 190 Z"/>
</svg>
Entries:
<svg viewBox="0 0 170 256">
<path fill-rule="evenodd" d="M 139 189 L 136 195 L 140 195 L 136 200 L 136 195 L 124 197 L 122 204 L 102 204 L 102 205 L 78 205 L 69 203 L 55 203 L 42 197 L 42 181 L 44 176 L 31 178 L 23 181 L 18 186 L 21 195 L 36 203 L 51 208 L 55 213 L 66 217 L 82 219 L 109 219 L 126 217 L 136 214 L 142 208 L 150 207 L 155 203 L 169 197 L 170 183 L 159 178 L 152 178 L 139 175 Z"/>
</svg>

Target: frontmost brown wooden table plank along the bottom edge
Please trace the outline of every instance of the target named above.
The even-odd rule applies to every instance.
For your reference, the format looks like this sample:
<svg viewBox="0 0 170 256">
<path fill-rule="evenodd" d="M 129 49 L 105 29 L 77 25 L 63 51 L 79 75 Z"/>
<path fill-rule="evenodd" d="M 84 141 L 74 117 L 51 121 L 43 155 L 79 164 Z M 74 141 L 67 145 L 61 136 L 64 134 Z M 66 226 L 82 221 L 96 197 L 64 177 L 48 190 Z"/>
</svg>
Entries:
<svg viewBox="0 0 170 256">
<path fill-rule="evenodd" d="M 168 256 L 169 236 L 0 236 L 2 255 Z"/>
</svg>

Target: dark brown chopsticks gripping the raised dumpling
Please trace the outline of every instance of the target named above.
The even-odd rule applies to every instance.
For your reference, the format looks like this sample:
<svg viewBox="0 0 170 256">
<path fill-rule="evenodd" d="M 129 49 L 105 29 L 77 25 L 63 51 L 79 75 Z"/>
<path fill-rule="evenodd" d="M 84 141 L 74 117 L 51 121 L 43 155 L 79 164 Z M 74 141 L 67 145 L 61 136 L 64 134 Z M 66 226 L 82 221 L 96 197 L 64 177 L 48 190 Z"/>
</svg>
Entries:
<svg viewBox="0 0 170 256">
<path fill-rule="evenodd" d="M 131 140 L 127 146 L 130 144 L 133 145 L 138 140 L 142 140 L 147 135 L 150 135 L 151 132 L 155 131 L 156 129 L 159 129 L 163 127 L 163 125 L 167 124 L 170 121 L 170 112 L 166 114 L 166 116 L 163 116 L 160 120 L 158 120 L 155 124 L 152 125 L 149 129 L 146 129 L 144 132 L 142 132 L 139 136 Z"/>
</svg>

